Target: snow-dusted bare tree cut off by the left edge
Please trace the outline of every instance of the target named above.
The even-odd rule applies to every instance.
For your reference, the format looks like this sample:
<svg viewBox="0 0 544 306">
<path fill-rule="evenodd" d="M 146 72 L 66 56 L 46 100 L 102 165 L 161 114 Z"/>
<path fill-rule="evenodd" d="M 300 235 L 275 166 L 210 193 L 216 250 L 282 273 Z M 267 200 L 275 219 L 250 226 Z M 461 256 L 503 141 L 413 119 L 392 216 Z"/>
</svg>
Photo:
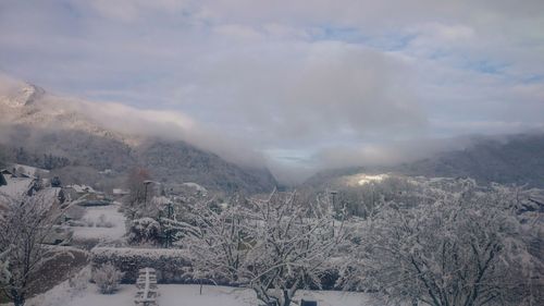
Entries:
<svg viewBox="0 0 544 306">
<path fill-rule="evenodd" d="M 0 196 L 0 290 L 20 306 L 36 274 L 63 254 L 45 242 L 65 208 L 44 193 L 20 199 Z"/>
</svg>

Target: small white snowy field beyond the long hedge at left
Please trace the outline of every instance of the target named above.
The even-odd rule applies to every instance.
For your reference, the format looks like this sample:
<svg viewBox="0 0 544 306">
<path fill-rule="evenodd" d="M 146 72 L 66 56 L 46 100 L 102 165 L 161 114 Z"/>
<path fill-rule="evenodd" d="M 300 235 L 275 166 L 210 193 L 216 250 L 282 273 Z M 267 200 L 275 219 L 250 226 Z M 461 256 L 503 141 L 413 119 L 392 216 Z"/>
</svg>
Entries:
<svg viewBox="0 0 544 306">
<path fill-rule="evenodd" d="M 125 234 L 125 217 L 119 212 L 119 204 L 109 206 L 85 207 L 82 220 L 94 227 L 76 227 L 74 240 L 98 238 L 102 241 L 116 241 Z M 103 217 L 101 217 L 103 216 Z M 101 224 L 102 223 L 102 224 Z M 110 228 L 103 227 L 110 223 Z"/>
</svg>

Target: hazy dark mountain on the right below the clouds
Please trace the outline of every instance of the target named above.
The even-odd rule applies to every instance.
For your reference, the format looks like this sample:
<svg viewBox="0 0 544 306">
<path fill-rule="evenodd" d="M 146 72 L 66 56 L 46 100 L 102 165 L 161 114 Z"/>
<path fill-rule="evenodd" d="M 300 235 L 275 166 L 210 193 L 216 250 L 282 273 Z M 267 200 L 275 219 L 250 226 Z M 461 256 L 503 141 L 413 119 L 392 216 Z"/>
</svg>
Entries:
<svg viewBox="0 0 544 306">
<path fill-rule="evenodd" d="M 391 173 L 428 178 L 472 178 L 492 182 L 544 187 L 544 134 L 478 137 L 461 150 L 450 150 L 393 167 L 354 167 L 317 173 L 306 181 L 316 187 L 335 186 L 342 179 Z"/>
</svg>

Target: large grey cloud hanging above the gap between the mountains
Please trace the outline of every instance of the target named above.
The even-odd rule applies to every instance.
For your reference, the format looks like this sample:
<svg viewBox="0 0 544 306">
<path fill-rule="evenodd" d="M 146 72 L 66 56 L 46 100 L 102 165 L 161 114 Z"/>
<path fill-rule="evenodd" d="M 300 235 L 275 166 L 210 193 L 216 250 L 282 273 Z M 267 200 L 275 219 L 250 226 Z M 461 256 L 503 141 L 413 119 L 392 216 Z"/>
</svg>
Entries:
<svg viewBox="0 0 544 306">
<path fill-rule="evenodd" d="M 257 142 L 285 146 L 425 124 L 401 59 L 343 42 L 270 48 L 199 63 L 193 82 L 208 90 L 198 100 L 220 105 L 209 121 L 243 123 Z"/>
</svg>

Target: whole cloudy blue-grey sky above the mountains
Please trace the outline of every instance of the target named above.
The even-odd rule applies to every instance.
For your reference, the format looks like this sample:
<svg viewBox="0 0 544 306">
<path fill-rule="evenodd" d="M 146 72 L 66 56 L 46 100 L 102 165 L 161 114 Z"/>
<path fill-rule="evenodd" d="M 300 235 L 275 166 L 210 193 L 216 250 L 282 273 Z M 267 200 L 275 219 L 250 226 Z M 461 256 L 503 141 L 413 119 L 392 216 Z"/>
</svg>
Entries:
<svg viewBox="0 0 544 306">
<path fill-rule="evenodd" d="M 544 2 L 1 0 L 0 73 L 297 180 L 543 130 Z"/>
</svg>

